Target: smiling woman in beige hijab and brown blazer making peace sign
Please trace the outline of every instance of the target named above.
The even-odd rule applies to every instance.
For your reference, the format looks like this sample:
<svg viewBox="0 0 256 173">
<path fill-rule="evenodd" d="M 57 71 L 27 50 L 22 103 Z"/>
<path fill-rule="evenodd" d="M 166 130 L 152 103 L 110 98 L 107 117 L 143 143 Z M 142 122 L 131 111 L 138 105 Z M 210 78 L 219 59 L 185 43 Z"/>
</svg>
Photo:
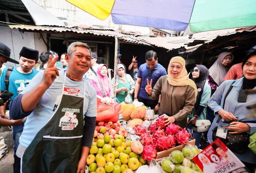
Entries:
<svg viewBox="0 0 256 173">
<path fill-rule="evenodd" d="M 164 121 L 166 125 L 174 123 L 181 128 L 187 127 L 187 116 L 191 114 L 197 96 L 196 84 L 187 75 L 185 60 L 173 57 L 168 66 L 168 74 L 161 76 L 153 89 L 152 80 L 150 84 L 147 80 L 147 96 L 157 100 L 161 95 L 159 115 L 169 116 Z"/>
</svg>

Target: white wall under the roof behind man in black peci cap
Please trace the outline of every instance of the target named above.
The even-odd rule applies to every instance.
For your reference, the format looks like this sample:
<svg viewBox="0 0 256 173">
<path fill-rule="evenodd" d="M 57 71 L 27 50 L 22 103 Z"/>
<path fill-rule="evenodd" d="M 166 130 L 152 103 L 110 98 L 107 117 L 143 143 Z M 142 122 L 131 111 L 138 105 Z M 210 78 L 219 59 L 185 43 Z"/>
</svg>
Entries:
<svg viewBox="0 0 256 173">
<path fill-rule="evenodd" d="M 46 34 L 42 34 L 46 40 Z M 19 52 L 23 46 L 36 49 L 39 54 L 46 51 L 46 45 L 40 38 L 40 35 L 33 32 L 20 33 L 18 29 L 11 29 L 8 26 L 0 26 L 0 42 L 4 43 L 11 49 L 11 58 L 19 61 Z M 19 66 L 11 62 L 4 63 L 4 66 Z"/>
</svg>

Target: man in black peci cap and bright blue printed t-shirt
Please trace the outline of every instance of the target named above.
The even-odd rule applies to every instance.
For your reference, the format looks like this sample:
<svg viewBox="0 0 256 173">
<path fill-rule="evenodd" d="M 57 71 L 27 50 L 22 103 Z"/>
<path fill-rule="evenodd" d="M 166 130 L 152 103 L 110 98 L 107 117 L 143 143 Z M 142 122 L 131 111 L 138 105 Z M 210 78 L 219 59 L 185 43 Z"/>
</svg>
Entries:
<svg viewBox="0 0 256 173">
<path fill-rule="evenodd" d="M 19 53 L 19 64 L 20 67 L 14 67 L 10 77 L 9 77 L 9 88 L 6 88 L 4 83 L 6 77 L 6 71 L 8 68 L 6 67 L 2 75 L 0 77 L 0 94 L 4 91 L 8 90 L 13 93 L 11 97 L 11 101 L 18 96 L 28 85 L 32 78 L 39 72 L 37 70 L 33 70 L 35 64 L 37 64 L 39 58 L 39 52 L 34 49 L 30 49 L 27 47 L 23 47 Z M 10 101 L 10 103 L 11 103 Z M 5 117 L 6 119 L 10 119 L 6 116 L 6 105 L 0 107 L 1 117 Z M 19 144 L 19 137 L 23 131 L 24 123 L 19 126 L 13 126 L 13 139 L 15 141 L 14 145 L 14 156 L 16 155 L 16 150 Z"/>
</svg>

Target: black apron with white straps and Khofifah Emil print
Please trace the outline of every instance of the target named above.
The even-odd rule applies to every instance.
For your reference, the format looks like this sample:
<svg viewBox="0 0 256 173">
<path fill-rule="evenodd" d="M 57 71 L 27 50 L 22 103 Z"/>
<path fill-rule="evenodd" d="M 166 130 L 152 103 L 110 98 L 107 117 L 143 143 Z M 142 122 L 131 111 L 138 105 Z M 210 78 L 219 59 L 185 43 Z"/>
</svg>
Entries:
<svg viewBox="0 0 256 173">
<path fill-rule="evenodd" d="M 22 156 L 23 173 L 76 172 L 84 130 L 84 97 L 63 94 L 65 80 L 66 72 L 57 109 Z"/>
</svg>

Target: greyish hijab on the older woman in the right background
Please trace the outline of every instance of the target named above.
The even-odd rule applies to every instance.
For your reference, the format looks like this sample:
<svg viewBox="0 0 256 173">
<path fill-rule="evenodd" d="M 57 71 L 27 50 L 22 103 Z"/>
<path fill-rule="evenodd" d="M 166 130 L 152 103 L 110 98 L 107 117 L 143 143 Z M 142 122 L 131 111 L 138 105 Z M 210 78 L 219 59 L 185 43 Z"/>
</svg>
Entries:
<svg viewBox="0 0 256 173">
<path fill-rule="evenodd" d="M 210 67 L 210 69 L 209 69 L 210 76 L 218 84 L 218 86 L 221 85 L 224 82 L 223 79 L 226 76 L 226 74 L 228 73 L 228 70 L 230 69 L 229 66 L 224 67 L 222 65 L 222 61 L 225 58 L 225 56 L 227 56 L 227 55 L 231 55 L 232 56 L 232 61 L 233 61 L 234 56 L 231 53 L 223 52 L 223 53 L 219 54 L 218 59 L 214 62 L 212 67 Z"/>
</svg>

